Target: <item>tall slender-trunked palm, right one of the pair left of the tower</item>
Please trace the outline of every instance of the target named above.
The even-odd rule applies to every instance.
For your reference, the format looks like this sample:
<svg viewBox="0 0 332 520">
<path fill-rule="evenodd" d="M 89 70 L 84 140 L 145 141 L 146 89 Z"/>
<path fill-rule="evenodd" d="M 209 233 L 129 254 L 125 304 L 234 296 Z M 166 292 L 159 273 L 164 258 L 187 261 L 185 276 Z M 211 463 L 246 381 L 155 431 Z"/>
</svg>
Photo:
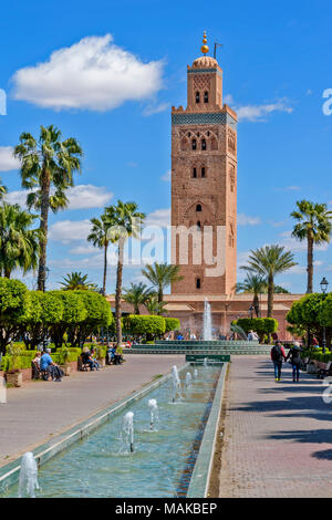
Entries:
<svg viewBox="0 0 332 520">
<path fill-rule="evenodd" d="M 116 205 L 106 208 L 110 220 L 113 226 L 108 229 L 111 242 L 117 245 L 117 268 L 116 268 L 116 291 L 115 291 L 115 326 L 117 345 L 122 343 L 121 326 L 121 298 L 122 298 L 122 278 L 124 263 L 124 247 L 128 238 L 137 238 L 141 232 L 145 214 L 138 211 L 136 202 L 123 202 L 117 200 Z"/>
</svg>

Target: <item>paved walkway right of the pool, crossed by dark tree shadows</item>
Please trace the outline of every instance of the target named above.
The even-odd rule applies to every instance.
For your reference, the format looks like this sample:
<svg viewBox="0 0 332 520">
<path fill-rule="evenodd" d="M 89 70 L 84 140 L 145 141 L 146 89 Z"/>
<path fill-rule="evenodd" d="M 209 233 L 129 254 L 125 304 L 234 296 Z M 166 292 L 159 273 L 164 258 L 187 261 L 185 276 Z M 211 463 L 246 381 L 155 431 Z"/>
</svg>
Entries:
<svg viewBox="0 0 332 520">
<path fill-rule="evenodd" d="M 332 403 L 322 382 L 291 367 L 232 356 L 226 397 L 220 497 L 331 497 Z"/>
</svg>

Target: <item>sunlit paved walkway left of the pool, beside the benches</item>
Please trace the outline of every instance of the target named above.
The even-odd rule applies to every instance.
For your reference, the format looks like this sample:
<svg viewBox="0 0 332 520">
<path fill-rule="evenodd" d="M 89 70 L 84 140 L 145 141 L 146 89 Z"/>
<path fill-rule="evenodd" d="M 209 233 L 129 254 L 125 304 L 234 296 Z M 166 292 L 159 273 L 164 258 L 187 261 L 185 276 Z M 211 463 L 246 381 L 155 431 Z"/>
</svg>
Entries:
<svg viewBox="0 0 332 520">
<path fill-rule="evenodd" d="M 0 404 L 0 466 L 184 363 L 181 355 L 133 354 L 121 366 L 77 372 L 62 383 L 9 388 L 8 403 Z"/>
</svg>

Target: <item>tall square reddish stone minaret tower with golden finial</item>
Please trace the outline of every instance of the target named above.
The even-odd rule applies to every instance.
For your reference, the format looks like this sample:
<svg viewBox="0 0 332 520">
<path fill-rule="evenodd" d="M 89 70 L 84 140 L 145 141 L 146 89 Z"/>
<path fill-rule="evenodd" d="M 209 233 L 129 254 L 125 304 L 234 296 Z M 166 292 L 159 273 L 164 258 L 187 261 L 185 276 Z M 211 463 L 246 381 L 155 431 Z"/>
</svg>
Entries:
<svg viewBox="0 0 332 520">
<path fill-rule="evenodd" d="M 237 115 L 203 42 L 187 67 L 187 107 L 172 108 L 172 262 L 184 277 L 172 293 L 208 297 L 236 283 Z"/>
</svg>

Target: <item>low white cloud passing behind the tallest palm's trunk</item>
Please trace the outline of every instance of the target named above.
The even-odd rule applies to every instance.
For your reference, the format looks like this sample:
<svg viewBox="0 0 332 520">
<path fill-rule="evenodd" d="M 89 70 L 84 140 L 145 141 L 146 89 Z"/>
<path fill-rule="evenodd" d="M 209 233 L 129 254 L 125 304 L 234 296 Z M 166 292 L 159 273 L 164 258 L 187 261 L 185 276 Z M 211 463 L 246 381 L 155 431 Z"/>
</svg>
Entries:
<svg viewBox="0 0 332 520">
<path fill-rule="evenodd" d="M 54 189 L 52 190 L 54 193 Z M 6 200 L 9 204 L 19 204 L 21 207 L 27 208 L 27 195 L 28 190 L 10 191 L 6 195 Z M 102 208 L 113 197 L 111 191 L 100 186 L 77 185 L 73 188 L 69 188 L 66 191 L 69 205 L 66 209 L 89 209 L 89 208 Z"/>
</svg>

